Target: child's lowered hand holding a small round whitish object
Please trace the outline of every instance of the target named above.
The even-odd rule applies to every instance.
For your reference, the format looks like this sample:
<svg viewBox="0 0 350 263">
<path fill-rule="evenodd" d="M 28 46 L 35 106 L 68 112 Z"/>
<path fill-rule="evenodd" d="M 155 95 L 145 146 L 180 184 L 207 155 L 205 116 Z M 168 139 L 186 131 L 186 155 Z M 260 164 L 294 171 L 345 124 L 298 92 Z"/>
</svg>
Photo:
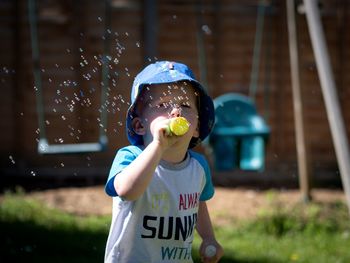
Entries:
<svg viewBox="0 0 350 263">
<path fill-rule="evenodd" d="M 216 263 L 224 255 L 224 250 L 216 240 L 203 240 L 199 254 L 203 263 Z"/>
</svg>

